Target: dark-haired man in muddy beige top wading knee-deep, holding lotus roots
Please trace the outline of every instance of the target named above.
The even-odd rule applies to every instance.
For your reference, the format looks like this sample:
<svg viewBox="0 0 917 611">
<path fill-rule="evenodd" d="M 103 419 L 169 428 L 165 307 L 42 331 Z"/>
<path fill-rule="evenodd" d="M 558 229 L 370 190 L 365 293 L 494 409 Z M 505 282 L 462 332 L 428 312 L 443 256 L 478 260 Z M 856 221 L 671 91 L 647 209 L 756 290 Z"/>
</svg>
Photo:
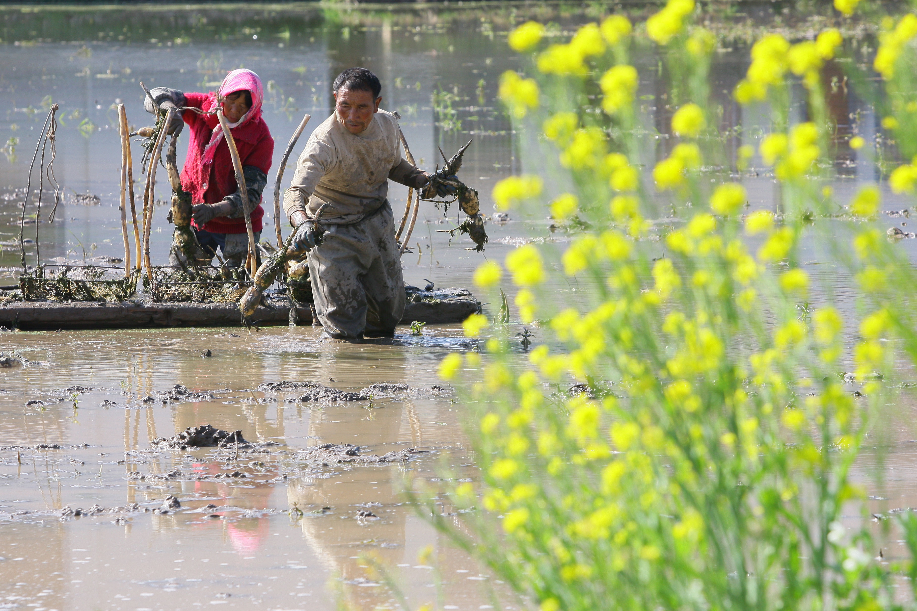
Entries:
<svg viewBox="0 0 917 611">
<path fill-rule="evenodd" d="M 421 189 L 429 176 L 401 155 L 394 115 L 379 110 L 381 84 L 350 68 L 334 82 L 335 112 L 315 128 L 296 166 L 283 210 L 308 250 L 315 311 L 326 337 L 392 337 L 404 312 L 401 256 L 388 181 Z M 447 187 L 437 188 L 440 195 Z M 319 224 L 315 213 L 327 204 Z"/>
</svg>

